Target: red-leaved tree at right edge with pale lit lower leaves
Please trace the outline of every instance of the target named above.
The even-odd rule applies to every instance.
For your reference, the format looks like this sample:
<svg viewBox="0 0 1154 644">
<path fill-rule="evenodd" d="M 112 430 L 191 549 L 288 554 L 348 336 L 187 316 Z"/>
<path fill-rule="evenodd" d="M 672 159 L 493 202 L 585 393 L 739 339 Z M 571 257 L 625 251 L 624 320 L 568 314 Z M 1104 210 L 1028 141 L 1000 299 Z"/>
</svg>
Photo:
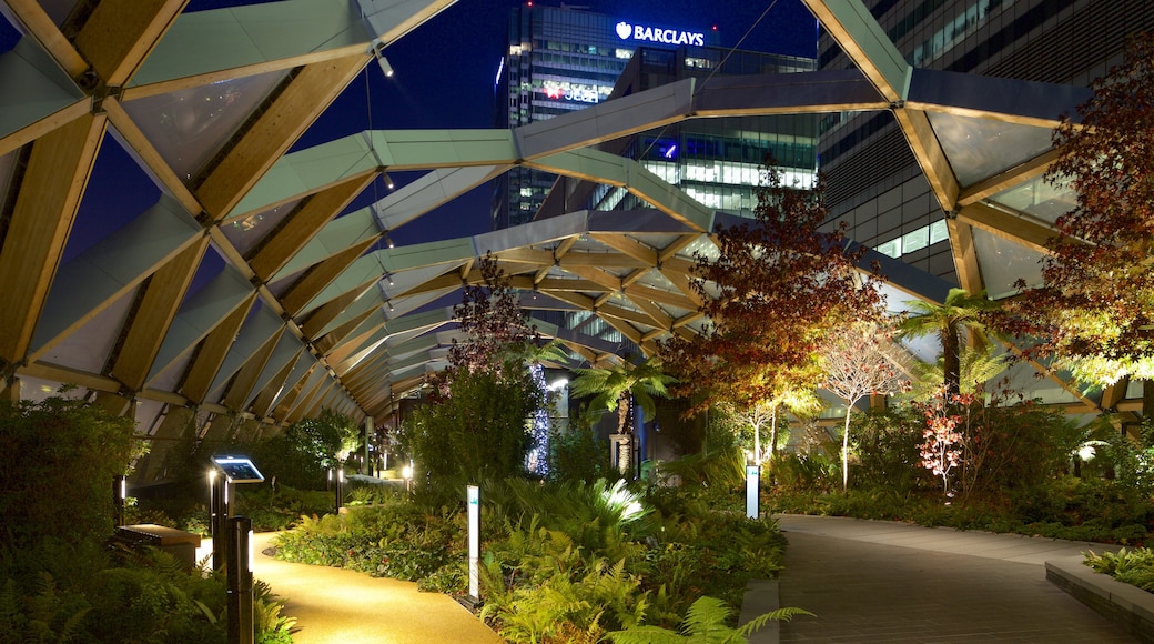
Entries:
<svg viewBox="0 0 1154 644">
<path fill-rule="evenodd" d="M 1013 305 L 1011 328 L 1033 351 L 1110 384 L 1154 377 L 1154 36 L 1134 36 L 1125 61 L 1054 132 L 1047 180 L 1077 204 L 1058 217 L 1040 287 Z M 1025 284 L 1020 284 L 1025 287 Z"/>
</svg>

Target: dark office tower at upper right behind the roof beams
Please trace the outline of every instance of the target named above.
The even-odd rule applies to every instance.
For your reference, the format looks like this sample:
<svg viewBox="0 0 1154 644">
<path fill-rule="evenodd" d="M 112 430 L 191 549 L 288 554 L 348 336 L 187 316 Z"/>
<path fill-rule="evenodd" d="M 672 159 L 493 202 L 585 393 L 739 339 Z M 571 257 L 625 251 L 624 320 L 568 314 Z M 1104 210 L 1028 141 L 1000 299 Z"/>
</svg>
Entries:
<svg viewBox="0 0 1154 644">
<path fill-rule="evenodd" d="M 1088 85 L 1122 60 L 1127 33 L 1154 29 L 1145 0 L 865 0 L 915 67 Z M 827 35 L 818 68 L 852 67 Z M 902 262 L 956 279 L 946 212 L 934 197 L 889 112 L 827 114 L 819 163 L 829 179 L 831 224 Z M 1024 199 L 1044 193 L 1040 182 Z M 1025 209 L 1014 204 L 1016 209 Z M 1052 223 L 1052 222 L 1050 222 Z M 975 235 L 977 250 L 990 246 Z"/>
</svg>

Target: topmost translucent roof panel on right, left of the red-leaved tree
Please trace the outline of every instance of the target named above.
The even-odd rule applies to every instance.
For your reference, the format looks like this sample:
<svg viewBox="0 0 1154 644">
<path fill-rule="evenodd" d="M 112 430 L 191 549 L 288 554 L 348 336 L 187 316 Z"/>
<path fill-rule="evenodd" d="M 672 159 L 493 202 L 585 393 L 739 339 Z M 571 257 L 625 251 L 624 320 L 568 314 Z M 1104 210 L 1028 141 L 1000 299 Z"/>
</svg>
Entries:
<svg viewBox="0 0 1154 644">
<path fill-rule="evenodd" d="M 971 186 L 1050 149 L 1044 127 L 928 112 L 930 125 L 962 186 Z"/>
</svg>

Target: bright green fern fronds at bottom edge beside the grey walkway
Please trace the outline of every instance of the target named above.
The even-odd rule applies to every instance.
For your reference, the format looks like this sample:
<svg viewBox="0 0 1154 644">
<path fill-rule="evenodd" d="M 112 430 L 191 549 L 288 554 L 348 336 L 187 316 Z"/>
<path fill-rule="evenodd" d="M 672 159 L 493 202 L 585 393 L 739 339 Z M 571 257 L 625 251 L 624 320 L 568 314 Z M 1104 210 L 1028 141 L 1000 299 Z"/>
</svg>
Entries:
<svg viewBox="0 0 1154 644">
<path fill-rule="evenodd" d="M 689 607 L 679 630 L 634 626 L 606 636 L 614 644 L 745 644 L 751 634 L 772 620 L 789 621 L 797 615 L 812 615 L 801 608 L 778 608 L 733 628 L 726 623 L 733 614 L 733 608 L 720 599 L 702 597 Z"/>
</svg>

